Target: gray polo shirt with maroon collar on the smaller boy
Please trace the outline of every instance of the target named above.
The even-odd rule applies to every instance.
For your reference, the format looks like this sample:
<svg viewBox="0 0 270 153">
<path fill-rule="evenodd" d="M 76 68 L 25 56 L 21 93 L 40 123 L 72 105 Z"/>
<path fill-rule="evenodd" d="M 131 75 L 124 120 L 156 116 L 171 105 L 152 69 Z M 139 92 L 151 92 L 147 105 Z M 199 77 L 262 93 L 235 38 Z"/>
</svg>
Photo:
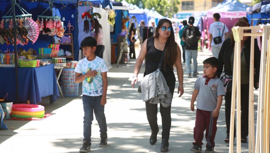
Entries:
<svg viewBox="0 0 270 153">
<path fill-rule="evenodd" d="M 199 90 L 196 107 L 200 110 L 213 111 L 217 107 L 217 96 L 226 95 L 223 83 L 217 77 L 199 76 L 193 88 Z"/>
</svg>

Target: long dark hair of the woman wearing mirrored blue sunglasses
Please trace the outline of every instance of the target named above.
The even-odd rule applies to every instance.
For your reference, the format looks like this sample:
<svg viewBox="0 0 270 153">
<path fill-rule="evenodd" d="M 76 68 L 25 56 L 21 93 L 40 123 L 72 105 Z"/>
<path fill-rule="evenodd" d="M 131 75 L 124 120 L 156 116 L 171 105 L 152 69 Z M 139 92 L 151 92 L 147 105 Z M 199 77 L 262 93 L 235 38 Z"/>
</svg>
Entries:
<svg viewBox="0 0 270 153">
<path fill-rule="evenodd" d="M 165 50 L 165 56 L 164 56 L 164 70 L 165 70 L 165 65 L 168 64 L 172 67 L 175 65 L 176 62 L 176 58 L 177 58 L 177 44 L 175 42 L 175 38 L 174 38 L 174 32 L 173 32 L 173 25 L 172 22 L 168 19 L 161 19 L 158 22 L 158 26 L 156 28 L 156 34 L 155 34 L 155 38 L 158 38 L 158 29 L 161 28 L 161 26 L 163 25 L 163 23 L 168 22 L 170 24 L 170 27 L 172 27 L 172 31 L 171 31 L 171 35 L 169 36 L 169 38 L 167 39 L 167 46 L 166 46 L 166 50 Z"/>
</svg>

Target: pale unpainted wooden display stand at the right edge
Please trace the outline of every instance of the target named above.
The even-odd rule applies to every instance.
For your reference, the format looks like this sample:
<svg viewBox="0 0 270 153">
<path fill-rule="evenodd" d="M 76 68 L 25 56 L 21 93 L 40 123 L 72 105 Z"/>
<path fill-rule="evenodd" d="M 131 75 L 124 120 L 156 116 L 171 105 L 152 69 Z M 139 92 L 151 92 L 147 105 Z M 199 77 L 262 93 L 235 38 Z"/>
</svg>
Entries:
<svg viewBox="0 0 270 153">
<path fill-rule="evenodd" d="M 262 29 L 262 33 L 257 30 Z M 244 30 L 251 30 L 251 33 L 244 33 Z M 249 132 L 248 146 L 251 153 L 269 153 L 269 129 L 270 129 L 270 26 L 251 26 L 251 27 L 233 27 L 235 40 L 235 52 L 233 63 L 233 79 L 232 79 L 232 105 L 230 119 L 230 140 L 233 140 L 234 119 L 235 119 L 235 94 L 236 94 L 236 145 L 237 153 L 241 153 L 241 40 L 243 36 L 251 36 L 250 47 L 250 82 L 249 82 Z M 260 79 L 259 79 L 259 98 L 258 113 L 256 127 L 256 143 L 254 129 L 254 40 L 256 36 L 262 36 L 261 62 L 260 62 Z M 268 48 L 267 48 L 268 42 Z M 266 52 L 268 52 L 266 63 Z M 266 65 L 266 67 L 265 67 Z M 237 88 L 237 91 L 236 91 Z M 264 111 L 266 109 L 266 111 Z M 255 146 L 256 144 L 256 146 Z M 229 153 L 233 152 L 233 141 L 229 142 Z"/>
</svg>

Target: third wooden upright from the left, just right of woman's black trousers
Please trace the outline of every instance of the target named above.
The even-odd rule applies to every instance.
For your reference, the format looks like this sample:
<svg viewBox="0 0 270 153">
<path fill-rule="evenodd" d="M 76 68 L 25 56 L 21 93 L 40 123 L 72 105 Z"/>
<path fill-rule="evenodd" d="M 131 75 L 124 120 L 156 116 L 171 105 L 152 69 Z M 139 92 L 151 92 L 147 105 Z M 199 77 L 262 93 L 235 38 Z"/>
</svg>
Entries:
<svg viewBox="0 0 270 153">
<path fill-rule="evenodd" d="M 255 30 L 252 30 L 252 34 L 255 33 Z M 250 44 L 250 69 L 249 69 L 249 102 L 248 102 L 248 152 L 255 151 L 255 135 L 254 135 L 254 39 L 255 36 L 251 36 Z"/>
</svg>

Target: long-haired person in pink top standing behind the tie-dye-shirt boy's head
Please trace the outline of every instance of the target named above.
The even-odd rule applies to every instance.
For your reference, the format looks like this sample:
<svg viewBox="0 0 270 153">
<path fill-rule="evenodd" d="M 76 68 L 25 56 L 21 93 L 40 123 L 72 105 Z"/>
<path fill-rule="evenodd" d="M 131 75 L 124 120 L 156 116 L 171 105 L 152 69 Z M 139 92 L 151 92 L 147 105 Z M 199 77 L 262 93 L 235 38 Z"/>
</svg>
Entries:
<svg viewBox="0 0 270 153">
<path fill-rule="evenodd" d="M 103 44 L 103 30 L 101 24 L 98 22 L 98 19 L 94 18 L 91 19 L 91 26 L 93 33 L 91 36 L 96 39 L 97 41 L 97 49 L 95 51 L 95 55 L 97 55 L 100 58 L 103 58 L 103 52 L 105 49 L 105 46 Z"/>
</svg>

